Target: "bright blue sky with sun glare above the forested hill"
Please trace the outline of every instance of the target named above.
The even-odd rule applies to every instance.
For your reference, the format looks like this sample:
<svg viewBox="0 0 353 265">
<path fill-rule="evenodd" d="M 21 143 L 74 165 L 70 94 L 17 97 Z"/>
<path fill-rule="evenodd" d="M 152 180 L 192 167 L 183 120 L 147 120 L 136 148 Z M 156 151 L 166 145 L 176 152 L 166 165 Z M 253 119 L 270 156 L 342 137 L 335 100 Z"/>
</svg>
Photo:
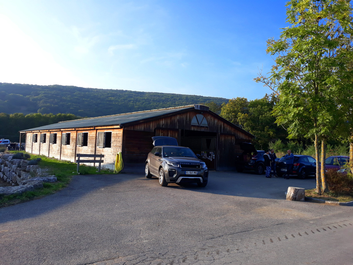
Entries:
<svg viewBox="0 0 353 265">
<path fill-rule="evenodd" d="M 248 99 L 285 1 L 0 0 L 0 82 Z"/>
</svg>

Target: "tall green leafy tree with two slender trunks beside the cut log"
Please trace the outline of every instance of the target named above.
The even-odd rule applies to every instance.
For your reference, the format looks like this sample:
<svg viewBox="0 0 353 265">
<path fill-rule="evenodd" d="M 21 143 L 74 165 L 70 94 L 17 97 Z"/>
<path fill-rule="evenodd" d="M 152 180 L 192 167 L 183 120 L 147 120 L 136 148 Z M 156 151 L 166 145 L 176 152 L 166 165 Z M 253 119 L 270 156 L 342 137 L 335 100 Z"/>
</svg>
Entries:
<svg viewBox="0 0 353 265">
<path fill-rule="evenodd" d="M 280 39 L 267 41 L 275 65 L 269 77 L 260 73 L 255 81 L 279 95 L 274 114 L 289 137 L 314 140 L 317 161 L 322 141 L 324 162 L 325 141 L 339 122 L 335 96 L 345 95 L 342 75 L 352 58 L 352 5 L 349 0 L 290 0 L 286 6 L 291 26 L 282 29 Z M 327 192 L 319 163 L 316 173 L 317 192 Z"/>
</svg>

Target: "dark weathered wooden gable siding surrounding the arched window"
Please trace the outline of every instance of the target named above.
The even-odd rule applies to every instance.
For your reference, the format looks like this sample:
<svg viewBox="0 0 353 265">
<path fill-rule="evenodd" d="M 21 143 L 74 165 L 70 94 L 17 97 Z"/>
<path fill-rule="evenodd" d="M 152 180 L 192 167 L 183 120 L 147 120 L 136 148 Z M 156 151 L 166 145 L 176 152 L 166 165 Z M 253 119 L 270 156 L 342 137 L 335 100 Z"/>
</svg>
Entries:
<svg viewBox="0 0 353 265">
<path fill-rule="evenodd" d="M 177 114 L 171 114 L 167 117 L 157 118 L 150 121 L 140 122 L 133 125 L 125 125 L 124 130 L 149 131 L 153 132 L 156 128 L 184 129 L 193 131 L 207 131 L 213 133 L 233 134 L 236 139 L 251 140 L 252 137 L 241 129 L 228 124 L 210 112 L 191 110 Z M 191 120 L 196 114 L 202 114 L 208 122 L 208 127 L 191 125 Z"/>
</svg>

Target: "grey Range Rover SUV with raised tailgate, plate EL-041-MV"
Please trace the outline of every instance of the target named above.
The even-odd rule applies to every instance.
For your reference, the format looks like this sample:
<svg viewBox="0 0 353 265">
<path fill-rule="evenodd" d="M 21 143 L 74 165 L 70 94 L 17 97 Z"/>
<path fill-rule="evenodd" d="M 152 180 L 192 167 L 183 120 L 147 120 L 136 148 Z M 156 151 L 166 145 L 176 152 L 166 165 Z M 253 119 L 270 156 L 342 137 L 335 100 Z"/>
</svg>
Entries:
<svg viewBox="0 0 353 265">
<path fill-rule="evenodd" d="M 207 166 L 190 148 L 178 146 L 173 137 L 155 136 L 152 139 L 155 147 L 146 160 L 146 178 L 158 177 L 163 187 L 168 183 L 197 183 L 199 187 L 206 187 Z"/>
</svg>

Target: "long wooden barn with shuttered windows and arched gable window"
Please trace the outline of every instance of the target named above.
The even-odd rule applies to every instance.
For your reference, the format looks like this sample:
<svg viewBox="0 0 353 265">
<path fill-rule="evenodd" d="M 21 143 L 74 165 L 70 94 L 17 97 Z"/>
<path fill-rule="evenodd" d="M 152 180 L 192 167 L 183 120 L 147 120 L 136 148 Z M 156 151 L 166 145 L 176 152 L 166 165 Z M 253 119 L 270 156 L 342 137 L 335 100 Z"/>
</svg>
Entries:
<svg viewBox="0 0 353 265">
<path fill-rule="evenodd" d="M 109 169 L 121 152 L 124 168 L 136 172 L 144 171 L 152 136 L 174 137 L 219 171 L 235 170 L 235 155 L 241 152 L 237 143 L 254 137 L 203 105 L 70 120 L 20 133 L 25 133 L 26 152 L 72 162 L 76 154 L 104 154 L 102 167 Z"/>
</svg>

